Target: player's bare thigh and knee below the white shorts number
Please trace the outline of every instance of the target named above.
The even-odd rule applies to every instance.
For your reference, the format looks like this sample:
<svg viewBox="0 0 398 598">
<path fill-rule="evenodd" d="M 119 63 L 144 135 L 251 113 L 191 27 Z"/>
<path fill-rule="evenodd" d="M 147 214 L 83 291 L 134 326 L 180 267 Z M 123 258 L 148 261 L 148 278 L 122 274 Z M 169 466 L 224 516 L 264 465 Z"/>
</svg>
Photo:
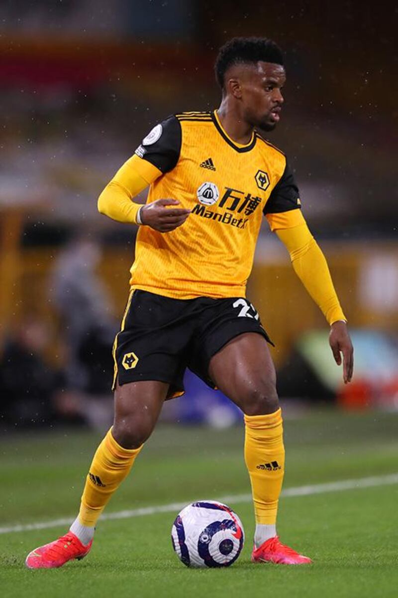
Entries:
<svg viewBox="0 0 398 598">
<path fill-rule="evenodd" d="M 266 339 L 257 332 L 239 334 L 215 353 L 209 375 L 248 415 L 278 408 L 275 367 Z"/>
</svg>

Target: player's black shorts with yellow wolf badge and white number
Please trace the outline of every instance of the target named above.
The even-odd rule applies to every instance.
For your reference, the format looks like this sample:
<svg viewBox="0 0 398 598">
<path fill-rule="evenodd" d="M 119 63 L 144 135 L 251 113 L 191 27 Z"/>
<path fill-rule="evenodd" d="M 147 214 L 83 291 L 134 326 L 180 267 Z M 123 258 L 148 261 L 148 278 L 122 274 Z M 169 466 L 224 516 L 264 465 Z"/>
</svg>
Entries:
<svg viewBox="0 0 398 598">
<path fill-rule="evenodd" d="M 257 311 L 243 297 L 172 299 L 132 291 L 113 344 L 113 388 L 116 380 L 121 386 L 160 380 L 170 385 L 168 398 L 179 396 L 184 393 L 187 367 L 215 388 L 209 361 L 243 332 L 258 332 L 271 343 Z"/>
</svg>

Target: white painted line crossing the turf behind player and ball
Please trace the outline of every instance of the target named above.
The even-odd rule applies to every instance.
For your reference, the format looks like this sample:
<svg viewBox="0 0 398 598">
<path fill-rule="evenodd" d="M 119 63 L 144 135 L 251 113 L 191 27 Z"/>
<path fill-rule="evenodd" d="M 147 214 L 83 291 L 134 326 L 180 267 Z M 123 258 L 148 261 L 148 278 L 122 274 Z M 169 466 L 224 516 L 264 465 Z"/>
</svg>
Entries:
<svg viewBox="0 0 398 598">
<path fill-rule="evenodd" d="M 283 497 L 289 496 L 310 496 L 314 494 L 323 494 L 325 492 L 343 492 L 343 490 L 356 490 L 362 488 L 371 488 L 374 486 L 390 486 L 391 484 L 398 484 L 398 473 L 390 475 L 377 475 L 369 478 L 359 478 L 357 480 L 340 480 L 336 482 L 326 482 L 325 484 L 313 484 L 312 486 L 295 486 L 282 490 Z M 213 499 L 214 500 L 214 499 Z M 251 502 L 251 494 L 238 494 L 230 496 L 222 496 L 215 499 L 220 502 L 239 503 Z M 114 513 L 107 513 L 101 516 L 101 521 L 110 519 L 128 519 L 131 517 L 143 517 L 144 515 L 154 515 L 155 513 L 178 512 L 185 507 L 187 502 L 172 502 L 168 505 L 158 505 L 155 507 L 141 507 L 138 509 L 130 509 L 129 511 L 117 511 Z M 53 519 L 52 521 L 42 521 L 39 523 L 27 523 L 25 525 L 14 525 L 10 527 L 0 527 L 0 534 L 15 533 L 15 532 L 30 532 L 38 529 L 48 529 L 50 527 L 69 526 L 72 523 L 73 517 L 63 517 L 61 519 Z"/>
</svg>

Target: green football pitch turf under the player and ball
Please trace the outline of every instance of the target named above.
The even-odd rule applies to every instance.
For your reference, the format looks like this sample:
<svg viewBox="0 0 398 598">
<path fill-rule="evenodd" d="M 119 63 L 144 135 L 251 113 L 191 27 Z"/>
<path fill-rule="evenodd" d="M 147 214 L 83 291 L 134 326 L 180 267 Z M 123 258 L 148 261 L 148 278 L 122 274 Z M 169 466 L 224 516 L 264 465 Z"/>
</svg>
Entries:
<svg viewBox="0 0 398 598">
<path fill-rule="evenodd" d="M 26 554 L 66 526 L 4 529 L 70 518 L 101 436 L 93 432 L 4 434 L 0 439 L 0 595 L 366 598 L 398 596 L 398 414 L 319 411 L 285 420 L 284 488 L 380 477 L 375 486 L 285 496 L 278 530 L 313 565 L 252 565 L 254 521 L 243 463 L 243 429 L 159 425 L 106 513 L 230 496 L 245 527 L 237 562 L 189 569 L 170 539 L 177 509 L 98 524 L 91 553 L 56 570 L 31 571 Z M 322 490 L 322 489 L 319 489 Z M 315 490 L 314 490 L 315 492 Z"/>
</svg>

